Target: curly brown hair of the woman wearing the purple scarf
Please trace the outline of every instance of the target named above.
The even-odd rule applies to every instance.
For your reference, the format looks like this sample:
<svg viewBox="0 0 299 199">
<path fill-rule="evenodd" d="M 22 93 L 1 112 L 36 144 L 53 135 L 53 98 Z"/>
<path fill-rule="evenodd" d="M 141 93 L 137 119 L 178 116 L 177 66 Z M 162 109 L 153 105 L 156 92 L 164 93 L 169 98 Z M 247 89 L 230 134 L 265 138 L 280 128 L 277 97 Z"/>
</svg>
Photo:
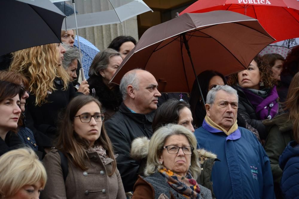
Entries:
<svg viewBox="0 0 299 199">
<path fill-rule="evenodd" d="M 259 68 L 261 79 L 264 82 L 263 87 L 272 88 L 275 85 L 276 81 L 272 75 L 271 66 L 269 62 L 265 58 L 261 57 L 260 55 L 255 56 L 253 60 L 257 62 L 257 67 Z M 230 86 L 237 85 L 237 83 L 238 83 L 238 73 L 235 72 L 229 75 L 228 85 Z"/>
</svg>

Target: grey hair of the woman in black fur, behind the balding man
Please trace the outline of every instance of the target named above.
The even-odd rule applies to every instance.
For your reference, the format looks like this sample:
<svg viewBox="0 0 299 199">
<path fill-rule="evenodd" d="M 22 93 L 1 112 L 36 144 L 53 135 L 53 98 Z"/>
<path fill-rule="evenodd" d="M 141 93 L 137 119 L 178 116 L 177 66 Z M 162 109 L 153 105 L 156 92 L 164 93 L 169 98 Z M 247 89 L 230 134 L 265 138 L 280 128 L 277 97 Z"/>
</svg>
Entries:
<svg viewBox="0 0 299 199">
<path fill-rule="evenodd" d="M 100 75 L 100 71 L 108 67 L 110 58 L 113 56 L 120 56 L 120 53 L 111 48 L 107 48 L 97 53 L 90 65 L 88 72 L 89 77 L 92 75 Z"/>
</svg>

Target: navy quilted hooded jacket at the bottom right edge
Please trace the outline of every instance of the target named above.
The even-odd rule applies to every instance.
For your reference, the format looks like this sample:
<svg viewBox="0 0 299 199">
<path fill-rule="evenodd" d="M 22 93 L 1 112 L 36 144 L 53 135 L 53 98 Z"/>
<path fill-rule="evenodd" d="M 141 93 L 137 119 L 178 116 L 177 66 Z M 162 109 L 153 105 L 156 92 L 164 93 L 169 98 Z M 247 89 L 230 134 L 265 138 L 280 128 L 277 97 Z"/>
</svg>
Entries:
<svg viewBox="0 0 299 199">
<path fill-rule="evenodd" d="M 281 191 L 286 199 L 299 198 L 299 144 L 292 141 L 279 158 L 283 170 L 280 181 Z"/>
</svg>

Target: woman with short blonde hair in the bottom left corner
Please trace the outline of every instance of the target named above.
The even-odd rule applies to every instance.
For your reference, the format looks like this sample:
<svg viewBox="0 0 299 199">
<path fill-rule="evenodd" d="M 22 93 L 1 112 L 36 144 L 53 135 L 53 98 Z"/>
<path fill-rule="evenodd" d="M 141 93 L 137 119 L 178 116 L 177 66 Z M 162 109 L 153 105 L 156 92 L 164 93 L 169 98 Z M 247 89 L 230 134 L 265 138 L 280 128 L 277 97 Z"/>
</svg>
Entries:
<svg viewBox="0 0 299 199">
<path fill-rule="evenodd" d="M 16 149 L 0 157 L 0 198 L 38 199 L 46 181 L 46 170 L 32 149 Z"/>
</svg>

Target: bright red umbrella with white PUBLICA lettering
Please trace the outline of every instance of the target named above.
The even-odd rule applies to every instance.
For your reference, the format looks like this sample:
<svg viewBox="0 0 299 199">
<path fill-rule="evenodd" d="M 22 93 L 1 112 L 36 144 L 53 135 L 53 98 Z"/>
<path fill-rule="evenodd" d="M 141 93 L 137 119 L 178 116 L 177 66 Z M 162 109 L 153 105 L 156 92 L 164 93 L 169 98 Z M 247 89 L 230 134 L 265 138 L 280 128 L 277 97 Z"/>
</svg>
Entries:
<svg viewBox="0 0 299 199">
<path fill-rule="evenodd" d="M 299 37 L 297 0 L 198 0 L 180 15 L 213 10 L 229 10 L 256 18 L 277 41 Z"/>
</svg>

